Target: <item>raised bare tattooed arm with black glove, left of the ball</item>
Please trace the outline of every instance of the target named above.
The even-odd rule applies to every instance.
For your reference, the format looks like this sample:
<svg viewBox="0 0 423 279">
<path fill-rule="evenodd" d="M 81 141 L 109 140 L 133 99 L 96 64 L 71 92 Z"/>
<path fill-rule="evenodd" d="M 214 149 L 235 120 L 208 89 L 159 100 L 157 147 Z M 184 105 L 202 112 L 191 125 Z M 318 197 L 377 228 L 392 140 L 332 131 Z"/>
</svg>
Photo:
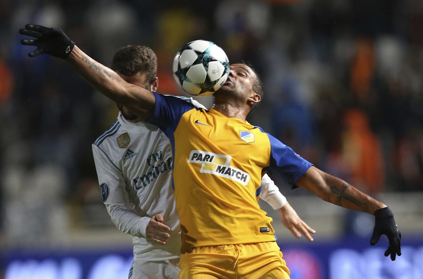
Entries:
<svg viewBox="0 0 423 279">
<path fill-rule="evenodd" d="M 21 41 L 23 45 L 37 47 L 28 54 L 30 57 L 48 54 L 63 58 L 82 78 L 106 97 L 125 105 L 141 119 L 150 119 L 153 115 L 156 104 L 153 93 L 126 82 L 110 68 L 93 60 L 62 30 L 27 24 L 25 29 L 19 30 L 19 33 L 35 38 Z"/>
</svg>

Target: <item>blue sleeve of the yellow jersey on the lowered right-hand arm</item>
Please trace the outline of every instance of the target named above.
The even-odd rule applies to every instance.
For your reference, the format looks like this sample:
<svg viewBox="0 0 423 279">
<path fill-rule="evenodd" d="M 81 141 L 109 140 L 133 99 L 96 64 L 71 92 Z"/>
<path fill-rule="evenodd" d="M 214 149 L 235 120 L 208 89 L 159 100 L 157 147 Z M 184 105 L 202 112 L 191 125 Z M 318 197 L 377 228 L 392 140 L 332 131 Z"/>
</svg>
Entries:
<svg viewBox="0 0 423 279">
<path fill-rule="evenodd" d="M 277 175 L 291 188 L 297 188 L 295 183 L 313 164 L 272 135 L 266 135 L 270 140 L 270 166 L 266 170 Z"/>
</svg>

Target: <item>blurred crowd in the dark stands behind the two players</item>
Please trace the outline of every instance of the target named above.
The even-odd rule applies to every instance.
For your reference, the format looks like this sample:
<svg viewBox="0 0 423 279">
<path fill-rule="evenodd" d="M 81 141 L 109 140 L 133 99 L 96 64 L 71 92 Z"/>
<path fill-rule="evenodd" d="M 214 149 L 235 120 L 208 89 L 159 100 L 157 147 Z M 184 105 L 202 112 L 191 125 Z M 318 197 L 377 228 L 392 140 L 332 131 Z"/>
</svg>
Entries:
<svg viewBox="0 0 423 279">
<path fill-rule="evenodd" d="M 252 124 L 375 197 L 423 190 L 420 0 L 0 0 L 0 226 L 10 243 L 63 241 L 69 208 L 101 204 L 91 143 L 117 116 L 61 59 L 28 58 L 26 23 L 62 28 L 106 65 L 125 45 L 152 47 L 159 93 L 184 94 L 172 77 L 179 47 L 214 41 L 264 82 Z"/>
</svg>

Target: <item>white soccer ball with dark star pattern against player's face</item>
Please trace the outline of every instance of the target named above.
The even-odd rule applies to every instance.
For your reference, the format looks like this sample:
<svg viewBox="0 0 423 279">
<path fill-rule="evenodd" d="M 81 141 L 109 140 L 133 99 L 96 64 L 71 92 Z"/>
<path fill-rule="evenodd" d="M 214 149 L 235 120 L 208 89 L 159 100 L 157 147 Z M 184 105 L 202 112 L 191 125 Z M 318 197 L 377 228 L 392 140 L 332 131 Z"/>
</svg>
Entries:
<svg viewBox="0 0 423 279">
<path fill-rule="evenodd" d="M 181 47 L 173 59 L 173 77 L 190 95 L 215 93 L 225 83 L 228 74 L 228 56 L 210 41 L 192 41 Z"/>
</svg>

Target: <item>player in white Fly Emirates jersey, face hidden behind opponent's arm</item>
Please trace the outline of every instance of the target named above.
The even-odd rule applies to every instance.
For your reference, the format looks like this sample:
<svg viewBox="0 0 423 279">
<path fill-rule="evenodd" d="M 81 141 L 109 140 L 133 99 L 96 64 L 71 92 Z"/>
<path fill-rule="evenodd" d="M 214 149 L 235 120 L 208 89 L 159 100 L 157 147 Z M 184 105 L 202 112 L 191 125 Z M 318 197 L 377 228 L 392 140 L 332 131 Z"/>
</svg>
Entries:
<svg viewBox="0 0 423 279">
<path fill-rule="evenodd" d="M 158 86 L 157 58 L 148 47 L 127 46 L 111 68 L 126 81 L 151 91 Z M 179 97 L 203 107 L 192 98 Z M 133 236 L 129 279 L 178 278 L 181 237 L 172 191 L 172 147 L 157 126 L 141 122 L 118 104 L 116 121 L 93 144 L 103 202 L 116 227 Z M 265 175 L 260 198 L 279 210 L 282 223 L 300 237 L 314 231 Z"/>
</svg>

